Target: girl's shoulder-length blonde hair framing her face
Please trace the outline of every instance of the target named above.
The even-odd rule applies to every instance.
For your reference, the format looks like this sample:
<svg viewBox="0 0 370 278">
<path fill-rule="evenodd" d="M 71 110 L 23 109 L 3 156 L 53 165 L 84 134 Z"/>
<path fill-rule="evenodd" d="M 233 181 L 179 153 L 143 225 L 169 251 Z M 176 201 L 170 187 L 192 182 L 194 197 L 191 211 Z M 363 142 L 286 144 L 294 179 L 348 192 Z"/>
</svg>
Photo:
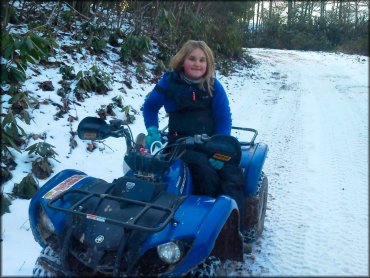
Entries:
<svg viewBox="0 0 370 278">
<path fill-rule="evenodd" d="M 170 62 L 170 68 L 175 71 L 183 70 L 186 56 L 196 48 L 201 49 L 206 56 L 207 69 L 204 74 L 204 81 L 202 83 L 202 87 L 204 88 L 204 83 L 207 84 L 208 93 L 212 96 L 214 82 L 213 77 L 215 74 L 215 59 L 213 56 L 212 49 L 209 48 L 209 46 L 204 41 L 188 40 L 186 43 L 184 43 L 184 45 L 176 53 L 176 55 L 172 57 Z"/>
</svg>

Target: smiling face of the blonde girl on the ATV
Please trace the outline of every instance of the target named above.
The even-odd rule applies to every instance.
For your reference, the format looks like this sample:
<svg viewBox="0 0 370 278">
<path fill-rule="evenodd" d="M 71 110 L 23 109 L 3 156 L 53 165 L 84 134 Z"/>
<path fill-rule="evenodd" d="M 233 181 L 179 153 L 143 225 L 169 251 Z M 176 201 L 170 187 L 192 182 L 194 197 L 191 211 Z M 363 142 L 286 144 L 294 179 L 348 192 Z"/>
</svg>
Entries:
<svg viewBox="0 0 370 278">
<path fill-rule="evenodd" d="M 207 59 L 203 50 L 200 48 L 190 52 L 184 61 L 185 76 L 190 79 L 201 78 L 207 70 Z"/>
</svg>

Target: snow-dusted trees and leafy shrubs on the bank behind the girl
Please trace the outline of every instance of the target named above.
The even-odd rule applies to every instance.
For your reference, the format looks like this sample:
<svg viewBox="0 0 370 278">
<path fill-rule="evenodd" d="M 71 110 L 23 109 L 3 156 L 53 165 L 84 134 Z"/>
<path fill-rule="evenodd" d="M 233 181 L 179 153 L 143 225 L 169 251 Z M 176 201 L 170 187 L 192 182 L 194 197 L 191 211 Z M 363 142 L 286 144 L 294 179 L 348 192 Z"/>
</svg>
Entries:
<svg viewBox="0 0 370 278">
<path fill-rule="evenodd" d="M 30 136 L 34 135 L 26 134 L 19 121 L 29 123 L 30 111 L 40 105 L 22 87 L 27 69 L 40 63 L 51 66 L 53 62 L 48 57 L 57 49 L 103 56 L 109 48 L 117 52 L 127 70 L 134 66 L 137 80 L 155 82 L 188 39 L 206 41 L 214 50 L 217 70 L 227 75 L 237 66 L 255 63 L 244 48 L 335 51 L 369 56 L 368 31 L 369 1 L 360 0 L 2 1 L 2 187 L 11 179 L 11 171 L 17 165 L 14 151 L 28 152 L 35 157 L 32 174 L 37 178 L 45 179 L 52 173 L 49 160 L 57 157 L 54 147 L 46 142 L 28 145 Z M 58 36 L 67 33 L 79 43 L 58 46 Z M 148 56 L 155 65 L 150 69 L 145 63 Z M 75 74 L 64 63 L 57 66 L 63 80 L 57 92 L 62 102 L 53 103 L 59 108 L 56 117 L 66 114 L 73 103 L 83 101 L 86 92 L 109 90 L 109 75 L 101 69 L 93 67 L 88 72 Z M 130 87 L 130 80 L 124 83 Z M 42 85 L 48 89 L 47 83 Z M 68 98 L 71 94 L 76 101 Z M 125 111 L 130 119 L 129 109 Z M 104 113 L 109 114 L 109 107 L 100 112 L 104 117 Z M 71 148 L 74 135 L 71 134 Z M 28 174 L 20 184 L 15 184 L 11 197 L 28 199 L 36 189 L 33 176 Z M 8 211 L 10 199 L 3 188 L 1 200 L 1 213 L 4 213 Z"/>
</svg>

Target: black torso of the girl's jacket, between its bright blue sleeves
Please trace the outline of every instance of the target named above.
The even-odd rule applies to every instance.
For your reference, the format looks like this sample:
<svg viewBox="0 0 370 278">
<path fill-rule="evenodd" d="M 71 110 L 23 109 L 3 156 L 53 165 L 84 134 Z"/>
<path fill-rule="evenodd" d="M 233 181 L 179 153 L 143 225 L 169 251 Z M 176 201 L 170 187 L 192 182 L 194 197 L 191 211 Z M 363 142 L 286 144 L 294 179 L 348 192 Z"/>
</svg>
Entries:
<svg viewBox="0 0 370 278">
<path fill-rule="evenodd" d="M 212 96 L 196 84 L 188 84 L 176 72 L 169 73 L 168 87 L 156 90 L 175 101 L 176 110 L 169 113 L 169 140 L 194 134 L 214 134 Z M 214 93 L 214 92 L 213 92 Z"/>
</svg>

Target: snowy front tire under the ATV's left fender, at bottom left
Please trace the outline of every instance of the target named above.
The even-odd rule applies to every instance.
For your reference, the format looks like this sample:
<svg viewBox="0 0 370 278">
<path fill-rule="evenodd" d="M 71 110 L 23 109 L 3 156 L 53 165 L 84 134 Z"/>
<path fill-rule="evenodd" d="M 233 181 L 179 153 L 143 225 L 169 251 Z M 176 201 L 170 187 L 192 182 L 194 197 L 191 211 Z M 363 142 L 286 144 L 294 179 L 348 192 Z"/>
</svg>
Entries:
<svg viewBox="0 0 370 278">
<path fill-rule="evenodd" d="M 47 264 L 45 262 L 48 262 Z M 61 267 L 59 256 L 50 247 L 46 246 L 37 258 L 35 266 L 32 271 L 32 277 L 55 277 L 59 276 L 58 271 L 51 269 L 50 262 L 56 266 Z"/>
</svg>

